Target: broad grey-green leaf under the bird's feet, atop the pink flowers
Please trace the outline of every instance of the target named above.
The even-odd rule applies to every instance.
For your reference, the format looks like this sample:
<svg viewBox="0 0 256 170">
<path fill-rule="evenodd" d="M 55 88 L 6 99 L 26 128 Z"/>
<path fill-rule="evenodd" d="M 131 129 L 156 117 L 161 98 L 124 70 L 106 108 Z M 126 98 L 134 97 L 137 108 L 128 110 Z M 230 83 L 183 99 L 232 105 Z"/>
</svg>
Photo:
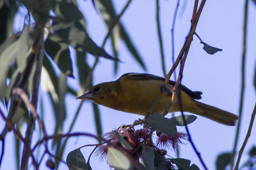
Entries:
<svg viewBox="0 0 256 170">
<path fill-rule="evenodd" d="M 154 131 L 160 130 L 164 134 L 168 134 L 173 137 L 177 134 L 177 127 L 174 121 L 163 117 L 160 113 L 154 113 L 145 120 L 145 123 L 152 127 Z"/>
</svg>

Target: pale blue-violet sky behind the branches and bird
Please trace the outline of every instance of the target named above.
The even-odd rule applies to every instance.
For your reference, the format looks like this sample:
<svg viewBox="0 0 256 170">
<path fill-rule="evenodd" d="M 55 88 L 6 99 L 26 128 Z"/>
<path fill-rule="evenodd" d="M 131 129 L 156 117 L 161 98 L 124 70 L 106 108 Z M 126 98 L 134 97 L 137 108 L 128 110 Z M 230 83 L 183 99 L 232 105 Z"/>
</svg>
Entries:
<svg viewBox="0 0 256 170">
<path fill-rule="evenodd" d="M 117 13 L 120 13 L 126 1 L 113 1 Z M 78 1 L 79 8 L 86 17 L 87 31 L 93 41 L 98 45 L 102 44 L 104 36 L 107 34 L 106 25 L 102 21 L 99 13 L 95 11 L 91 1 Z M 177 21 L 175 25 L 175 57 L 177 57 L 190 28 L 191 13 L 193 11 L 194 1 L 180 1 Z M 161 10 L 161 28 L 163 33 L 163 44 L 165 54 L 165 66 L 169 71 L 172 67 L 172 48 L 171 48 L 171 28 L 173 13 L 176 1 L 160 1 Z M 246 53 L 246 89 L 244 95 L 243 118 L 241 122 L 241 132 L 237 149 L 241 148 L 253 107 L 256 101 L 255 89 L 253 87 L 253 76 L 256 64 L 256 10 L 255 4 L 249 3 L 248 15 L 248 48 Z M 207 54 L 202 49 L 202 44 L 196 36 L 191 44 L 188 58 L 184 67 L 182 84 L 191 90 L 202 91 L 203 103 L 216 106 L 223 110 L 238 114 L 239 96 L 241 88 L 241 54 L 242 54 L 242 33 L 243 33 L 243 1 L 207 1 L 204 10 L 198 22 L 196 33 L 205 43 L 223 49 L 214 55 Z M 20 22 L 17 18 L 17 24 Z M 156 1 L 132 1 L 129 8 L 121 19 L 127 32 L 131 36 L 133 43 L 143 57 L 143 61 L 147 66 L 147 71 L 143 71 L 137 62 L 127 52 L 125 45 L 120 41 L 119 55 L 120 63 L 118 73 L 113 74 L 113 62 L 108 59 L 101 58 L 93 73 L 93 85 L 105 81 L 113 81 L 124 73 L 150 73 L 163 76 L 161 69 L 161 59 L 159 52 L 159 44 L 157 39 L 156 27 Z M 111 43 L 108 41 L 106 51 L 111 53 Z M 93 64 L 95 58 L 88 56 L 88 61 Z M 73 64 L 76 63 L 73 61 Z M 178 73 L 178 72 L 177 72 Z M 75 72 L 76 75 L 76 72 Z M 173 80 L 173 76 L 171 78 Z M 72 87 L 78 89 L 76 77 L 69 79 L 68 83 Z M 41 92 L 43 99 L 47 100 L 45 92 Z M 67 120 L 64 132 L 68 131 L 68 127 L 75 115 L 79 101 L 73 96 L 67 96 Z M 143 118 L 140 115 L 115 111 L 104 106 L 100 106 L 101 120 L 103 132 L 109 132 L 118 128 L 122 124 L 132 124 L 134 120 Z M 177 113 L 179 115 L 180 113 Z M 170 117 L 170 114 L 169 114 Z M 47 132 L 54 131 L 54 117 L 52 117 L 51 107 L 45 106 L 45 124 L 47 124 Z M 3 127 L 3 120 L 0 120 Z M 215 169 L 215 161 L 217 155 L 223 152 L 231 152 L 234 144 L 236 127 L 229 127 L 218 124 L 204 117 L 198 117 L 195 122 L 188 125 L 191 137 L 201 153 L 202 159 L 209 169 Z M 38 130 L 38 127 L 37 129 Z M 179 131 L 185 132 L 180 127 Z M 86 101 L 83 104 L 79 118 L 72 132 L 89 132 L 96 134 L 92 103 Z M 248 151 L 255 145 L 256 136 L 255 125 L 253 125 L 252 135 L 244 150 L 241 163 L 248 159 Z M 36 137 L 33 139 L 36 141 Z M 8 159 L 13 160 L 15 152 L 13 150 L 13 134 L 8 134 L 6 139 L 6 150 L 3 160 L 3 169 L 15 169 L 15 163 L 10 164 Z M 92 138 L 71 138 L 68 141 L 65 155 L 72 150 L 83 145 L 95 144 L 97 141 Z M 87 160 L 90 150 L 93 148 L 82 148 L 81 152 Z M 170 151 L 169 155 L 175 157 L 175 153 Z M 189 141 L 185 141 L 184 145 L 180 145 L 180 157 L 191 160 L 192 164 L 202 169 L 202 165 L 196 156 Z M 92 157 L 90 160 L 92 169 L 109 169 L 106 161 L 99 162 L 99 159 Z M 41 167 L 44 169 L 44 166 Z M 67 169 L 65 164 L 61 164 L 60 169 Z"/>
</svg>

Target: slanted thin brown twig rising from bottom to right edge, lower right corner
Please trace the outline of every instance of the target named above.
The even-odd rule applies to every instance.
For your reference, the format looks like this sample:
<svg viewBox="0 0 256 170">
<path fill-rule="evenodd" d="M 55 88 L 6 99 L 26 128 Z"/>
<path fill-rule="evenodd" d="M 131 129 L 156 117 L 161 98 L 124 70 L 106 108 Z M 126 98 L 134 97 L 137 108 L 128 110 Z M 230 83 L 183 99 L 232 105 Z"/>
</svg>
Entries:
<svg viewBox="0 0 256 170">
<path fill-rule="evenodd" d="M 254 118 L 255 118 L 255 113 L 256 113 L 256 104 L 254 106 L 254 109 L 253 109 L 253 112 L 252 112 L 252 118 L 251 118 L 251 121 L 250 121 L 250 125 L 249 125 L 249 128 L 248 128 L 248 131 L 247 131 L 247 134 L 246 134 L 246 137 L 244 139 L 244 143 L 241 147 L 241 149 L 239 150 L 239 155 L 238 155 L 238 158 L 237 158 L 237 162 L 236 162 L 236 167 L 235 167 L 235 170 L 238 169 L 238 166 L 239 166 L 239 162 L 240 162 L 240 159 L 242 157 L 242 154 L 243 154 L 243 151 L 244 151 L 244 147 L 251 135 L 251 132 L 252 132 L 252 125 L 253 125 L 253 121 L 254 121 Z"/>
</svg>

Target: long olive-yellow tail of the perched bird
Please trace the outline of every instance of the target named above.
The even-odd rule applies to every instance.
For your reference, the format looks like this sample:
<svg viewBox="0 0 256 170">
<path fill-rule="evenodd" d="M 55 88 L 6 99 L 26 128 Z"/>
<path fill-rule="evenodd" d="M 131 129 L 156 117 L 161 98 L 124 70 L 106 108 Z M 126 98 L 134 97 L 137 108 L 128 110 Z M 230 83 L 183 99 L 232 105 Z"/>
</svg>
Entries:
<svg viewBox="0 0 256 170">
<path fill-rule="evenodd" d="M 209 106 L 208 104 L 200 103 L 198 101 L 194 101 L 194 104 L 197 106 L 197 110 L 193 110 L 191 113 L 209 118 L 215 122 L 219 122 L 220 124 L 236 125 L 238 118 L 237 115 L 219 108 L 215 108 L 214 106 Z"/>
</svg>

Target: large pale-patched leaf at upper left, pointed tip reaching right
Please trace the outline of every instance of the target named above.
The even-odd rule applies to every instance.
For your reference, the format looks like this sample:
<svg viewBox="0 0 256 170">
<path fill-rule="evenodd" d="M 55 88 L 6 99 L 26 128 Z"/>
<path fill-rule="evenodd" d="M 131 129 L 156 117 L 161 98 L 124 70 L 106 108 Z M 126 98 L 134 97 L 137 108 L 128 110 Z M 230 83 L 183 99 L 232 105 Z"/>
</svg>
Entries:
<svg viewBox="0 0 256 170">
<path fill-rule="evenodd" d="M 56 36 L 60 38 L 60 42 L 72 45 L 76 50 L 91 53 L 96 57 L 102 56 L 115 60 L 103 48 L 100 48 L 93 42 L 79 20 L 70 21 L 54 18 L 52 29 Z"/>
</svg>

